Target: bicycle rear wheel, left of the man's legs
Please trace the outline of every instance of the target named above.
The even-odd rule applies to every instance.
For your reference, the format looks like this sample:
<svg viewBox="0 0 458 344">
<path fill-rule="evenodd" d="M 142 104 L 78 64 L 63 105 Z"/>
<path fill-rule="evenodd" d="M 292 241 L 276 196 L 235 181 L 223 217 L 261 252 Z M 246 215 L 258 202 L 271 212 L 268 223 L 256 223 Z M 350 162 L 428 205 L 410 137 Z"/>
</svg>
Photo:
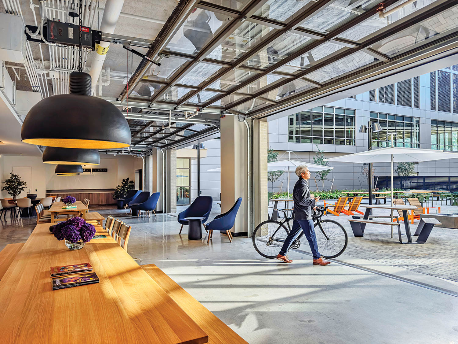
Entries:
<svg viewBox="0 0 458 344">
<path fill-rule="evenodd" d="M 275 258 L 288 235 L 288 229 L 278 221 L 261 222 L 253 232 L 253 246 L 266 258 Z"/>
</svg>

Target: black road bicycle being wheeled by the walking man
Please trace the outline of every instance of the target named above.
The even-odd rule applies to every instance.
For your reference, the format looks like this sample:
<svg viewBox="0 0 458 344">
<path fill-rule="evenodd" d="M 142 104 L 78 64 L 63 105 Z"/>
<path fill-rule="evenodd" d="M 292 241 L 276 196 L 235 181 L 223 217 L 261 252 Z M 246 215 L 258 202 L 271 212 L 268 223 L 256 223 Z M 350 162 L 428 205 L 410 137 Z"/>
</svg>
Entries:
<svg viewBox="0 0 458 344">
<path fill-rule="evenodd" d="M 322 220 L 327 207 L 316 207 L 312 215 L 315 224 L 316 241 L 318 250 L 324 258 L 335 258 L 341 255 L 347 248 L 348 236 L 344 227 L 333 220 Z M 267 220 L 260 223 L 253 233 L 253 245 L 256 251 L 266 258 L 277 257 L 286 236 L 291 231 L 289 222 L 293 220 L 288 217 L 287 212 L 292 209 L 278 209 L 284 213 L 284 218 L 281 221 Z M 285 226 L 285 224 L 287 226 Z M 287 228 L 288 227 L 288 228 Z M 309 247 L 308 240 L 304 236 L 304 232 L 300 232 L 298 237 L 291 244 L 291 249 L 298 249 L 301 244 Z"/>
</svg>

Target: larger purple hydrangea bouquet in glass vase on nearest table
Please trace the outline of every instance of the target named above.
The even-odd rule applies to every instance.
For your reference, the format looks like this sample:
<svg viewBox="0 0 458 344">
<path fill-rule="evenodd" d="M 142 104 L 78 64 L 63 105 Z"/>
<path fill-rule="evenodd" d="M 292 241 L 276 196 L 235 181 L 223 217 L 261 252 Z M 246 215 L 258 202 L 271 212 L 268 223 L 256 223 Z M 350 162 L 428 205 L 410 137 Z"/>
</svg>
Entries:
<svg viewBox="0 0 458 344">
<path fill-rule="evenodd" d="M 72 217 L 49 228 L 57 240 L 64 240 L 70 250 L 79 250 L 89 242 L 95 234 L 94 225 L 81 217 Z"/>
</svg>

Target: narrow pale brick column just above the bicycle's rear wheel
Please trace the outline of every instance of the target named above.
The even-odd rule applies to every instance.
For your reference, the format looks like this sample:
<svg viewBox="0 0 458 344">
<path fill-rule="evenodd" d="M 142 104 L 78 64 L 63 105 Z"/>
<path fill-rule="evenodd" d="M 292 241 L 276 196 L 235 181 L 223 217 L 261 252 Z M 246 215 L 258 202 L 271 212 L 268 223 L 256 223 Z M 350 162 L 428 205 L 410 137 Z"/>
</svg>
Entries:
<svg viewBox="0 0 458 344">
<path fill-rule="evenodd" d="M 253 120 L 253 228 L 267 220 L 268 122 Z"/>
</svg>

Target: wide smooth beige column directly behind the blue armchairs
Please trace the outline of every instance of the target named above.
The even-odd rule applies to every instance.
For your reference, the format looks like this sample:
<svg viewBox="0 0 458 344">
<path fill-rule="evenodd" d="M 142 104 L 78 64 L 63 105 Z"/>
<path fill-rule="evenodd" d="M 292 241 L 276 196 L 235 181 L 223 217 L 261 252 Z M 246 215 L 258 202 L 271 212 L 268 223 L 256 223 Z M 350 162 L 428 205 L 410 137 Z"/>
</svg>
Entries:
<svg viewBox="0 0 458 344">
<path fill-rule="evenodd" d="M 242 197 L 242 204 L 231 232 L 248 232 L 247 128 L 236 116 L 221 118 L 221 212 L 228 211 Z"/>
</svg>

